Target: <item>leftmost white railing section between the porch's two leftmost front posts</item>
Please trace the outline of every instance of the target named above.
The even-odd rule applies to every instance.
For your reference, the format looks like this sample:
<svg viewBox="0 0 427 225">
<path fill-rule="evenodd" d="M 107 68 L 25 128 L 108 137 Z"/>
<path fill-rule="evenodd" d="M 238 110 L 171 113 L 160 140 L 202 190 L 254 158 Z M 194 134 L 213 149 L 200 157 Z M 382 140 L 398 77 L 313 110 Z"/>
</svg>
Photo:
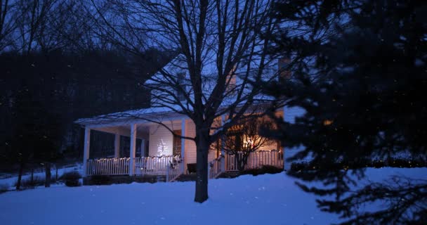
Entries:
<svg viewBox="0 0 427 225">
<path fill-rule="evenodd" d="M 124 175 L 129 174 L 130 158 L 110 158 L 88 160 L 86 175 Z"/>
</svg>

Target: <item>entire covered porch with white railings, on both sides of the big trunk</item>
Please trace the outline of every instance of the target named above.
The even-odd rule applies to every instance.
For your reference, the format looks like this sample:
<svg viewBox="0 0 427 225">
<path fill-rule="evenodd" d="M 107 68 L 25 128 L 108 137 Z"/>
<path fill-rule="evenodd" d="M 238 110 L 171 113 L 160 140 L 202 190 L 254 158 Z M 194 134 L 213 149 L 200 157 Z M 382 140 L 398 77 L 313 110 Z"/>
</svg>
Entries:
<svg viewBox="0 0 427 225">
<path fill-rule="evenodd" d="M 174 118 L 174 119 L 171 119 Z M 220 122 L 225 121 L 221 117 Z M 84 177 L 107 176 L 163 176 L 174 181 L 181 174 L 195 173 L 196 148 L 194 141 L 179 139 L 171 131 L 183 136 L 195 136 L 195 125 L 185 117 L 169 117 L 164 125 L 144 120 L 85 124 L 84 130 Z M 114 136 L 114 157 L 97 158 L 91 155 L 91 133 L 100 131 Z M 123 137 L 126 137 L 124 141 Z M 225 138 L 225 137 L 224 137 Z M 124 151 L 124 147 L 129 151 Z M 238 171 L 237 155 L 225 154 L 221 145 L 209 150 L 209 179 L 226 172 Z M 250 153 L 244 169 L 256 169 L 265 165 L 283 168 L 283 152 L 279 146 L 266 146 Z M 190 167 L 191 166 L 191 167 Z"/>
</svg>

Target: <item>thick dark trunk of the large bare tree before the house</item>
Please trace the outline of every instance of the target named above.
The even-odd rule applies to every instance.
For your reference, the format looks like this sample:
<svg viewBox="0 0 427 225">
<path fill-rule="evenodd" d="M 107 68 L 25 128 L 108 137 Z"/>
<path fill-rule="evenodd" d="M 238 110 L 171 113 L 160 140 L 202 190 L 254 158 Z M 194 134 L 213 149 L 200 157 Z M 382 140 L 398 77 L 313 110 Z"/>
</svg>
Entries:
<svg viewBox="0 0 427 225">
<path fill-rule="evenodd" d="M 197 149 L 197 179 L 195 202 L 203 203 L 208 199 L 208 152 L 209 152 L 209 133 L 203 134 L 197 132 L 196 149 Z"/>
</svg>

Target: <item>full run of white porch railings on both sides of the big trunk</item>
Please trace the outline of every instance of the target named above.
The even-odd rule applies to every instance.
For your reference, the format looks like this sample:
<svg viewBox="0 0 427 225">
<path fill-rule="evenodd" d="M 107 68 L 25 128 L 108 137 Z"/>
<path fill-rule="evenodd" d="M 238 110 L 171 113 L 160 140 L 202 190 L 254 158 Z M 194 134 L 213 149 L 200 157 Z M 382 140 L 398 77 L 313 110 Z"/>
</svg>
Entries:
<svg viewBox="0 0 427 225">
<path fill-rule="evenodd" d="M 238 171 L 238 155 L 220 155 L 208 164 L 209 179 L 215 179 L 223 173 Z M 265 165 L 283 168 L 283 154 L 277 150 L 250 153 L 244 169 L 258 169 Z M 164 181 L 175 181 L 185 171 L 185 164 L 180 155 L 140 157 L 140 158 L 103 158 L 88 159 L 86 176 L 140 176 L 163 177 Z M 191 172 L 191 171 L 190 171 Z"/>
</svg>

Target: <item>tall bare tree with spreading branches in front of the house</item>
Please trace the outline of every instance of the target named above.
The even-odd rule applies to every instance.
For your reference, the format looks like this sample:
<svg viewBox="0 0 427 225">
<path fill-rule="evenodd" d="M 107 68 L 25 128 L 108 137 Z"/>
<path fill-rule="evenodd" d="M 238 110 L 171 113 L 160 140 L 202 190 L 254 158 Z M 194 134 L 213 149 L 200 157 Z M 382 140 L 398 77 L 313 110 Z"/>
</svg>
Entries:
<svg viewBox="0 0 427 225">
<path fill-rule="evenodd" d="M 249 0 L 127 0 L 96 4 L 98 24 L 120 46 L 138 53 L 143 44 L 178 49 L 180 55 L 151 77 L 152 108 L 167 108 L 188 116 L 196 134 L 179 136 L 197 146 L 195 201 L 208 198 L 209 146 L 244 117 L 262 111 L 261 81 L 275 79 L 267 54 L 275 20 L 271 1 Z M 110 4 L 111 11 L 102 11 Z M 121 19 L 117 19 L 121 18 Z M 266 72 L 270 72 L 265 76 Z M 228 120 L 213 125 L 216 118 Z M 117 116 L 117 115 L 116 115 Z M 124 116 L 124 115 L 121 115 Z M 137 117 L 129 115 L 129 117 Z M 143 115 L 138 116 L 147 119 Z M 160 120 L 152 120 L 162 124 Z M 166 125 L 164 125 L 166 127 Z M 167 128 L 167 127 L 166 127 Z M 174 134 L 178 136 L 177 134 Z"/>
</svg>

